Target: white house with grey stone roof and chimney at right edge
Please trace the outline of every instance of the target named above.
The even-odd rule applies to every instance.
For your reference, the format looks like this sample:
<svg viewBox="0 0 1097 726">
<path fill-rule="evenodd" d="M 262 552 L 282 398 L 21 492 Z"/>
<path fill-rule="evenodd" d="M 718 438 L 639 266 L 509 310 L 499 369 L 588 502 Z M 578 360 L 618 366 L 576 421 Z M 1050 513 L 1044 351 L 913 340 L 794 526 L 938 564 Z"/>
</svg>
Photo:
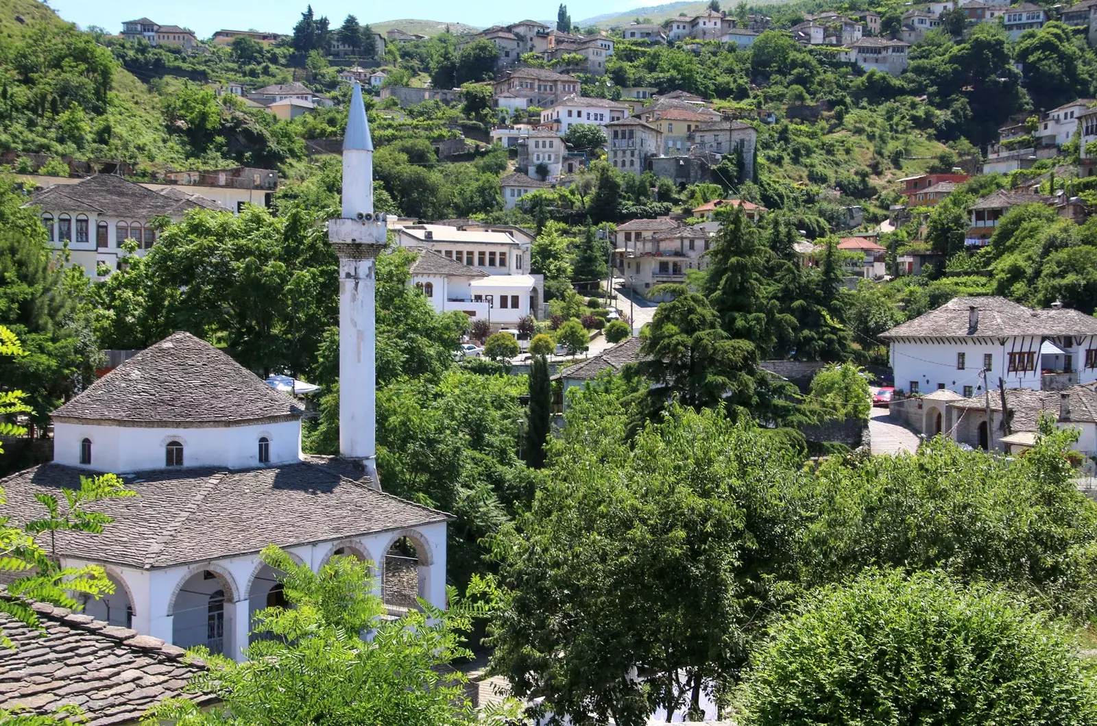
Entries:
<svg viewBox="0 0 1097 726">
<path fill-rule="evenodd" d="M 957 297 L 881 337 L 891 344 L 895 387 L 907 393 L 971 397 L 999 381 L 1033 390 L 1097 381 L 1097 318 L 1068 308 Z"/>
</svg>

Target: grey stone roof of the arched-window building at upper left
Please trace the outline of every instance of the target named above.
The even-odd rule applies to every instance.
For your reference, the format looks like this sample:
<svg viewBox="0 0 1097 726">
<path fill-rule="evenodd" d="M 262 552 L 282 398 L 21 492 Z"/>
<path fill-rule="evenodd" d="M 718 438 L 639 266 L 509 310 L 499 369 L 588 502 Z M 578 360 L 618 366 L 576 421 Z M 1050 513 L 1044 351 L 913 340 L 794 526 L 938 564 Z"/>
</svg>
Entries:
<svg viewBox="0 0 1097 726">
<path fill-rule="evenodd" d="M 39 189 L 31 196 L 31 203 L 42 207 L 43 212 L 54 214 L 84 212 L 127 219 L 148 219 L 160 214 L 181 217 L 190 209 L 200 207 L 225 208 L 204 197 L 195 200 L 192 195 L 160 194 L 116 174 L 94 174 L 76 184 Z"/>
</svg>

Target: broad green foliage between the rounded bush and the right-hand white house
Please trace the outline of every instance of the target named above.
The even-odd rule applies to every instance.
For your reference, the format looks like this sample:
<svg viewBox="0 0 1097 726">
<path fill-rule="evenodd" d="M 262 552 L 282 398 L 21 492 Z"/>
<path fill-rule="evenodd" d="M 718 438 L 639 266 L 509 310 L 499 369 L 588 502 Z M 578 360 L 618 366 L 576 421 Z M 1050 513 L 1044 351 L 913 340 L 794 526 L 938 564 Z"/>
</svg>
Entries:
<svg viewBox="0 0 1097 726">
<path fill-rule="evenodd" d="M 945 569 L 1092 617 L 1097 504 L 1073 481 L 1065 452 L 1076 435 L 1044 419 L 1036 446 L 1014 462 L 938 436 L 915 456 L 824 464 L 804 483 L 819 507 L 803 538 L 806 580 L 839 581 L 868 565 Z"/>
</svg>

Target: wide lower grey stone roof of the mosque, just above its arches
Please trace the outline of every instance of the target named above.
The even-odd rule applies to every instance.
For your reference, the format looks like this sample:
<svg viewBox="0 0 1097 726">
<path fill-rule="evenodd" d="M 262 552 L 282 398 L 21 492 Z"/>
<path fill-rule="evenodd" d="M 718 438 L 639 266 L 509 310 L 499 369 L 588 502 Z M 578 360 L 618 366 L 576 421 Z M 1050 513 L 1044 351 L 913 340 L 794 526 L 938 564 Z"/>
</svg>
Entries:
<svg viewBox="0 0 1097 726">
<path fill-rule="evenodd" d="M 337 460 L 338 462 L 339 460 Z M 79 489 L 87 469 L 42 464 L 0 479 L 4 514 L 42 515 L 36 494 Z M 377 491 L 324 460 L 226 472 L 213 467 L 138 472 L 124 478 L 136 497 L 97 506 L 114 519 L 101 534 L 63 532 L 57 554 L 155 568 L 246 555 L 444 522 L 449 514 Z"/>
</svg>

